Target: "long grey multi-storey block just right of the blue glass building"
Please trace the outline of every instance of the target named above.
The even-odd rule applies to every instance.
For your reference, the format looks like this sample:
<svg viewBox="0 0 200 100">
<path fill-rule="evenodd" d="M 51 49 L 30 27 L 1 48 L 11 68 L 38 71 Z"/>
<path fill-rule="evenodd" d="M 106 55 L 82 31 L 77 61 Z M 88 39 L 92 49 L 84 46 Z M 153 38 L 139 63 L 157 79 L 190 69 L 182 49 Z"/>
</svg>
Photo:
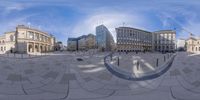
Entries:
<svg viewBox="0 0 200 100">
<path fill-rule="evenodd" d="M 136 28 L 119 27 L 117 50 L 119 52 L 152 51 L 152 33 Z"/>
</svg>

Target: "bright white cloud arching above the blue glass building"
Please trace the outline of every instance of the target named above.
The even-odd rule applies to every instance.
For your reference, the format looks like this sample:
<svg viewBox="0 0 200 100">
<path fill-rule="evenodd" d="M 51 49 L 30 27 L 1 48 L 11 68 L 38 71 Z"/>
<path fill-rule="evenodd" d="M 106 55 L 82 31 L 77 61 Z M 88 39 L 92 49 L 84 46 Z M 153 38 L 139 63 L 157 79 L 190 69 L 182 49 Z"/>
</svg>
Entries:
<svg viewBox="0 0 200 100">
<path fill-rule="evenodd" d="M 86 19 L 78 22 L 72 30 L 71 36 L 79 36 L 82 34 L 95 34 L 96 26 L 104 24 L 112 33 L 116 40 L 115 28 L 123 26 L 136 27 L 144 29 L 146 20 L 143 16 L 125 12 L 102 12 L 89 15 Z"/>
</svg>

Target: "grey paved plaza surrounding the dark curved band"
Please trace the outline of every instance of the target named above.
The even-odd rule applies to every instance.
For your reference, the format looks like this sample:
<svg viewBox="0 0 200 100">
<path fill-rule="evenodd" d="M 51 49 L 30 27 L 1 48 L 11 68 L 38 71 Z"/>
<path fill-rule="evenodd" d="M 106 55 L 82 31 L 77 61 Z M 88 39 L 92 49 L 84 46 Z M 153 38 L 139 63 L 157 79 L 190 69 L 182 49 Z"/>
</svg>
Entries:
<svg viewBox="0 0 200 100">
<path fill-rule="evenodd" d="M 104 66 L 104 57 L 107 54 L 109 53 L 57 52 L 37 57 L 24 55 L 27 58 L 23 59 L 20 55 L 18 58 L 1 55 L 0 100 L 199 100 L 200 98 L 198 54 L 178 52 L 166 73 L 158 78 L 144 81 L 128 81 L 113 75 Z M 151 62 L 152 57 L 163 59 L 163 54 L 156 55 L 146 53 L 137 56 L 154 66 Z M 78 61 L 78 58 L 82 61 Z M 131 59 L 128 61 L 130 62 L 127 64 L 133 62 Z"/>
</svg>

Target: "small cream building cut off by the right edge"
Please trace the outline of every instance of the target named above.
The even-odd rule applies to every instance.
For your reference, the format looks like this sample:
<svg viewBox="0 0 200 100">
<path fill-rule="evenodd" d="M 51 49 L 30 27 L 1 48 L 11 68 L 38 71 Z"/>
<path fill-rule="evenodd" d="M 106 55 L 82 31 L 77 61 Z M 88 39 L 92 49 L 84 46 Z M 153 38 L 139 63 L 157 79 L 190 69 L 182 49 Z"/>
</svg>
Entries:
<svg viewBox="0 0 200 100">
<path fill-rule="evenodd" d="M 190 37 L 186 40 L 187 52 L 200 53 L 200 38 Z"/>
</svg>

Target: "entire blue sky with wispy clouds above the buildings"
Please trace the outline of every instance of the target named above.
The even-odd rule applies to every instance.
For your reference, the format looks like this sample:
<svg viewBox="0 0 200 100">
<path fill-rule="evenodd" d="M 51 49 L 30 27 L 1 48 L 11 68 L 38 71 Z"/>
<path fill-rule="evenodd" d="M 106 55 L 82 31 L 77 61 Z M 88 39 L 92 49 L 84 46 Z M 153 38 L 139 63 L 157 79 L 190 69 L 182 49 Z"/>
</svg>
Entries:
<svg viewBox="0 0 200 100">
<path fill-rule="evenodd" d="M 176 30 L 177 39 L 186 39 L 189 33 L 200 36 L 199 12 L 199 0 L 0 0 L 0 35 L 23 24 L 67 44 L 104 24 L 114 39 L 120 26 Z"/>
</svg>

